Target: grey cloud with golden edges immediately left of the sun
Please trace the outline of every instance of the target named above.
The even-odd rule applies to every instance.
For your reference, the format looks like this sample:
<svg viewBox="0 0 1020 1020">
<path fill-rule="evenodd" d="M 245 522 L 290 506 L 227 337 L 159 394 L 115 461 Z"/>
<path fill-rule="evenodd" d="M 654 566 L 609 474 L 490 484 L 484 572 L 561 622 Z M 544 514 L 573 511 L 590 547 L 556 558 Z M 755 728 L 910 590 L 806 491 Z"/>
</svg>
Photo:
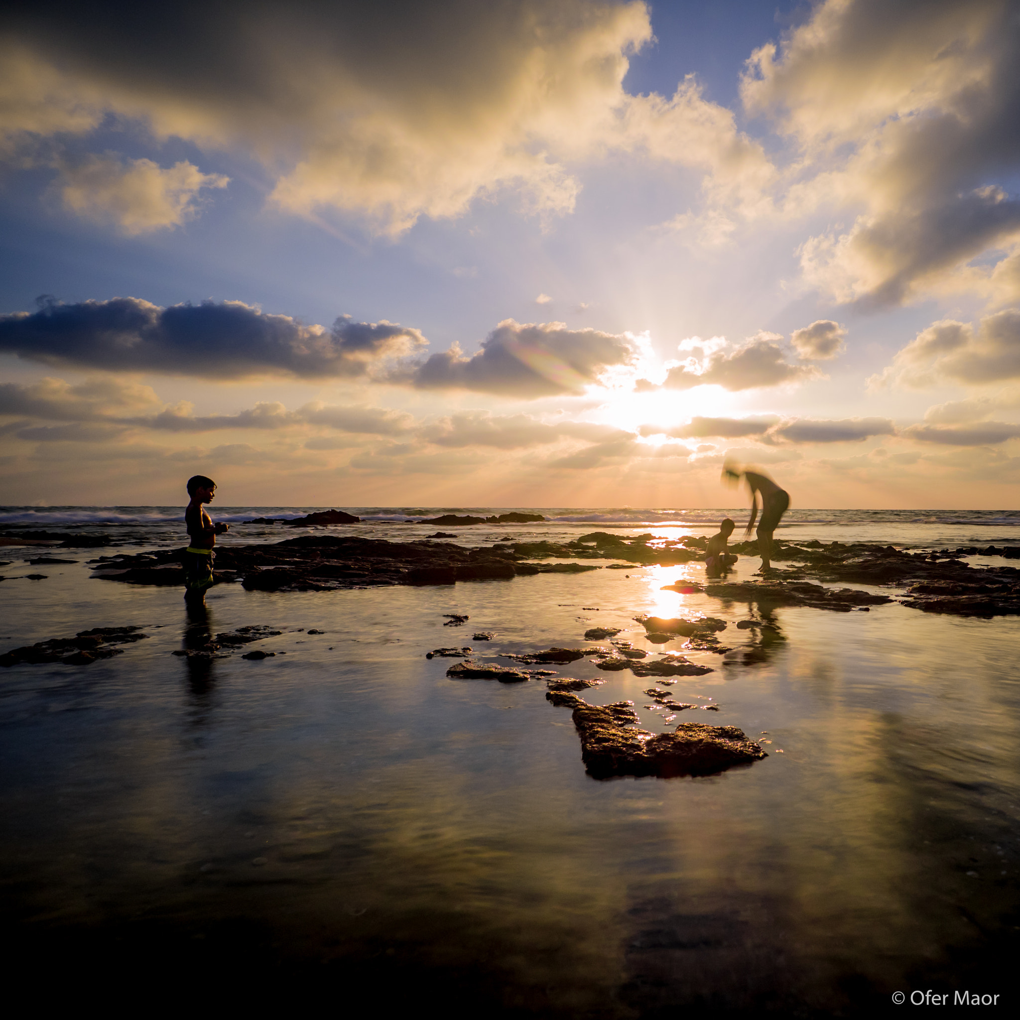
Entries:
<svg viewBox="0 0 1020 1020">
<path fill-rule="evenodd" d="M 627 334 L 504 319 L 476 354 L 464 357 L 455 344 L 424 362 L 391 372 L 388 379 L 419 390 L 459 389 L 530 399 L 581 393 L 609 369 L 634 359 L 634 343 Z"/>
</svg>

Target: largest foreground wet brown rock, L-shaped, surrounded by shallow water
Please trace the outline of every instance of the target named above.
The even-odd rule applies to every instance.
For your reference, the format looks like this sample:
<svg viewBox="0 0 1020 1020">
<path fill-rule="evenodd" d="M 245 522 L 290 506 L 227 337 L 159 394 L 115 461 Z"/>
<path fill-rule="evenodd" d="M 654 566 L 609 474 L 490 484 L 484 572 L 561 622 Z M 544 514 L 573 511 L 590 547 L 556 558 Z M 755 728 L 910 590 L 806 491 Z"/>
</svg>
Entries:
<svg viewBox="0 0 1020 1020">
<path fill-rule="evenodd" d="M 547 696 L 548 697 L 548 696 Z M 633 702 L 589 705 L 576 695 L 557 694 L 557 704 L 573 710 L 581 759 L 591 776 L 713 775 L 734 765 L 767 757 L 760 745 L 735 726 L 680 723 L 673 732 L 653 736 L 638 729 Z"/>
</svg>

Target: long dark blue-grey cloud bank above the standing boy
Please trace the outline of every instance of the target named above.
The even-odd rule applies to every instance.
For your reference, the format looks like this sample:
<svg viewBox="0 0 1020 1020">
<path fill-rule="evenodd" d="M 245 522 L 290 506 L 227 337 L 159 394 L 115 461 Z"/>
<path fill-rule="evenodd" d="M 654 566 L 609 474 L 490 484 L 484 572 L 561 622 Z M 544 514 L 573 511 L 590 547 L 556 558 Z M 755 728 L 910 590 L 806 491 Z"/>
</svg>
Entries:
<svg viewBox="0 0 1020 1020">
<path fill-rule="evenodd" d="M 160 308 L 138 298 L 61 304 L 0 315 L 0 353 L 46 364 L 205 378 L 287 374 L 358 377 L 427 341 L 381 320 L 339 318 L 330 329 L 239 301 Z"/>
</svg>

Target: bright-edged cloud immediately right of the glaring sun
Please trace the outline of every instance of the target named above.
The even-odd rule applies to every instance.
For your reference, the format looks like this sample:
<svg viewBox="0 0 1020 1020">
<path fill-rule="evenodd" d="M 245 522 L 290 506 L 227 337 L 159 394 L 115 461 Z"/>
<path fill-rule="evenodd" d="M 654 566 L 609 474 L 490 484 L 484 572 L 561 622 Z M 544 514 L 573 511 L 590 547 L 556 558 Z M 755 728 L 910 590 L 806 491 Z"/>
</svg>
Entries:
<svg viewBox="0 0 1020 1020">
<path fill-rule="evenodd" d="M 688 390 L 715 385 L 738 391 L 824 377 L 813 365 L 795 365 L 786 361 L 785 352 L 774 343 L 781 339 L 778 334 L 762 332 L 732 351 L 712 351 L 711 347 L 692 346 L 692 342 L 684 341 L 681 348 L 686 346 L 692 356 L 682 364 L 669 368 L 662 386 L 669 390 Z M 647 388 L 647 384 L 639 385 L 639 389 Z"/>
</svg>

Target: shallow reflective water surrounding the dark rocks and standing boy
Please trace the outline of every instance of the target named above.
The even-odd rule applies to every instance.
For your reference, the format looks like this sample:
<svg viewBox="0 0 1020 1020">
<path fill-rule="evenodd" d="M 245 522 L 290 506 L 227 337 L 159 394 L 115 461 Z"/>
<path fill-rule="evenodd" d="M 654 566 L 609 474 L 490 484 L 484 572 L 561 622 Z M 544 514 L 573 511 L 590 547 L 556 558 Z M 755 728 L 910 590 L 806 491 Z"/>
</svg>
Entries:
<svg viewBox="0 0 1020 1020">
<path fill-rule="evenodd" d="M 980 515 L 858 517 L 793 523 L 826 542 L 1013 533 Z M 172 522 L 122 526 L 132 551 L 178 544 Z M 592 526 L 492 525 L 458 541 Z M 258 530 L 232 538 L 284 537 Z M 706 526 L 623 533 L 647 530 Z M 5 927 L 27 956 L 72 948 L 92 966 L 113 953 L 148 972 L 212 955 L 276 975 L 269 984 L 367 982 L 419 1006 L 440 996 L 450 1014 L 854 1014 L 898 989 L 1012 988 L 1020 620 L 785 608 L 773 617 L 785 640 L 763 648 L 733 626 L 747 607 L 660 590 L 702 577 L 701 564 L 335 593 L 223 584 L 208 619 L 189 620 L 177 590 L 91 579 L 99 552 L 111 550 L 61 551 L 81 562 L 0 585 L 2 648 L 152 627 L 111 660 L 0 674 Z M 742 560 L 738 576 L 757 566 Z M 444 626 L 453 612 L 469 622 Z M 597 781 L 545 683 L 452 680 L 456 660 L 424 658 L 590 646 L 596 625 L 662 651 L 632 620 L 642 612 L 721 616 L 723 641 L 751 646 L 750 661 L 726 664 L 691 653 L 715 671 L 670 690 L 721 707 L 677 721 L 740 726 L 772 742 L 768 758 L 712 778 Z M 287 654 L 204 666 L 170 654 L 203 627 L 254 623 L 284 631 L 254 648 Z M 496 639 L 473 642 L 475 629 Z M 660 683 L 586 660 L 553 668 L 605 679 L 582 693 L 597 704 L 648 705 L 642 692 Z M 665 713 L 639 712 L 666 728 Z"/>
</svg>

